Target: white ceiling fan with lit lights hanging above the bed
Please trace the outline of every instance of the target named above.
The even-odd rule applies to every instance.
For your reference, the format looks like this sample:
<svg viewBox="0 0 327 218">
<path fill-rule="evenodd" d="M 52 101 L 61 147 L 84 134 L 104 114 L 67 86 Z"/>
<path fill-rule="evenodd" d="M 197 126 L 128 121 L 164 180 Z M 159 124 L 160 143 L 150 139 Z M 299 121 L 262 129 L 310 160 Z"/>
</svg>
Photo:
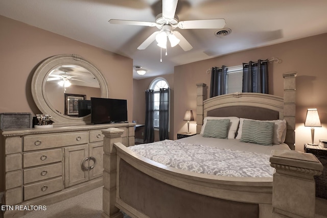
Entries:
<svg viewBox="0 0 327 218">
<path fill-rule="evenodd" d="M 226 25 L 225 19 L 179 21 L 175 15 L 177 2 L 178 0 L 162 0 L 162 13 L 156 16 L 155 22 L 110 19 L 109 23 L 157 27 L 159 31 L 152 33 L 137 47 L 138 50 L 146 49 L 154 40 L 159 47 L 167 49 L 169 40 L 172 47 L 179 44 L 184 51 L 189 51 L 193 47 L 178 31 L 173 31 L 174 29 L 222 29 Z"/>
</svg>

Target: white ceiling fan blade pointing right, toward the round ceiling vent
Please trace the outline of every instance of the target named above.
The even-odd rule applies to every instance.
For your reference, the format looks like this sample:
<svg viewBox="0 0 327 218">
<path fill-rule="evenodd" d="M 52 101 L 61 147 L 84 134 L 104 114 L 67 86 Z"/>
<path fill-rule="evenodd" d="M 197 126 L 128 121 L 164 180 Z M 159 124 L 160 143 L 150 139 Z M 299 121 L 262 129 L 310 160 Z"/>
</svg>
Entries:
<svg viewBox="0 0 327 218">
<path fill-rule="evenodd" d="M 178 22 L 180 29 L 222 29 L 225 25 L 225 19 L 186 20 Z"/>
</svg>

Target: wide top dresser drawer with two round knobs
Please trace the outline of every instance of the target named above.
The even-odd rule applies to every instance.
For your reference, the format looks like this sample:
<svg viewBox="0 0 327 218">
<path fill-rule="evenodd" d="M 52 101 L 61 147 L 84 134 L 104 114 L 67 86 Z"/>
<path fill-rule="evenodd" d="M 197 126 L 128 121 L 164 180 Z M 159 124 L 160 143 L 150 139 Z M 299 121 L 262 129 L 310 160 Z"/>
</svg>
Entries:
<svg viewBox="0 0 327 218">
<path fill-rule="evenodd" d="M 26 136 L 23 151 L 51 149 L 88 143 L 88 132 Z"/>
</svg>

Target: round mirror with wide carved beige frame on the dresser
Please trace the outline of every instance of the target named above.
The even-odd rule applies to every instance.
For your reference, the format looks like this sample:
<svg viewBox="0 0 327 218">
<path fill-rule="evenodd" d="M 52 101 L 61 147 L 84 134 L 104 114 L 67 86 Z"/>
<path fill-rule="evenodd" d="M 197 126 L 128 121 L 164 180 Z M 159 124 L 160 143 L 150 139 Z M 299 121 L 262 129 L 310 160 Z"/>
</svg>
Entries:
<svg viewBox="0 0 327 218">
<path fill-rule="evenodd" d="M 54 125 L 90 123 L 90 98 L 108 98 L 107 82 L 97 67 L 77 55 L 57 55 L 43 61 L 32 79 L 32 95 Z M 82 110 L 83 109 L 83 110 Z"/>
</svg>

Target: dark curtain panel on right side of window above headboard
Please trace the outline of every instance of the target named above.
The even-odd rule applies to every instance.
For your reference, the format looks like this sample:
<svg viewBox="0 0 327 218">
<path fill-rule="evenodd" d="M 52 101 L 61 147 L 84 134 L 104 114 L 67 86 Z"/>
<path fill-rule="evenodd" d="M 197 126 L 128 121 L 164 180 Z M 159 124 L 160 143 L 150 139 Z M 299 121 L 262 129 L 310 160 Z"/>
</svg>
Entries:
<svg viewBox="0 0 327 218">
<path fill-rule="evenodd" d="M 242 91 L 268 94 L 268 60 L 243 63 Z"/>
</svg>

